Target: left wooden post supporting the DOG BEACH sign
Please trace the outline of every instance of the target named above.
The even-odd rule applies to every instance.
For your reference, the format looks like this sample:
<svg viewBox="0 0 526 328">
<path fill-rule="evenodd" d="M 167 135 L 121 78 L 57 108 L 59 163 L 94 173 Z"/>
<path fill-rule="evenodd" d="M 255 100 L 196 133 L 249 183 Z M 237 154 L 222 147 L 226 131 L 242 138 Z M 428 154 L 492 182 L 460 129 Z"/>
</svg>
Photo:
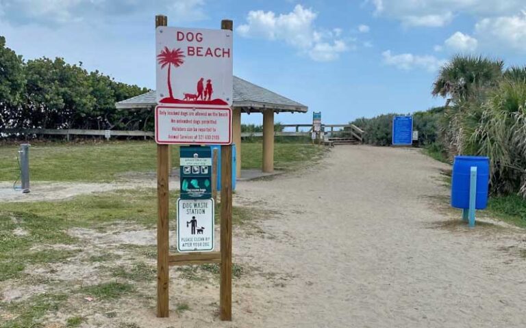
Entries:
<svg viewBox="0 0 526 328">
<path fill-rule="evenodd" d="M 163 15 L 155 16 L 155 28 L 168 25 L 168 18 Z M 168 145 L 157 145 L 157 316 L 168 318 L 168 174 L 169 174 Z"/>
</svg>

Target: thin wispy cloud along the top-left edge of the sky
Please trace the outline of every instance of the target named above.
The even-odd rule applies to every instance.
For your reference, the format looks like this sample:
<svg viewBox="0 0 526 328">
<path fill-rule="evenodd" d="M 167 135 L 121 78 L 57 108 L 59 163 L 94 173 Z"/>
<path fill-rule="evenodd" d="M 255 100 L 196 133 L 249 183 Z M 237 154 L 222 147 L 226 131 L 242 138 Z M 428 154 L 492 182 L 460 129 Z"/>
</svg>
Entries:
<svg viewBox="0 0 526 328">
<path fill-rule="evenodd" d="M 118 16 L 155 14 L 171 20 L 205 18 L 205 0 L 0 0 L 0 21 L 14 25 L 64 25 L 77 21 L 110 21 Z"/>
</svg>

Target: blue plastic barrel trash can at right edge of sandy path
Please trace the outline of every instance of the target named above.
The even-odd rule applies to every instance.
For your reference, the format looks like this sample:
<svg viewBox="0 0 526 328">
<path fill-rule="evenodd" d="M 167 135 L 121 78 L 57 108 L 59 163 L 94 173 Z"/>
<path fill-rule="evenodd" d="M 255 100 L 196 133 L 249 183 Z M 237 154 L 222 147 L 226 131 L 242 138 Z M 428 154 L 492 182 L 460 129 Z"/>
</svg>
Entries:
<svg viewBox="0 0 526 328">
<path fill-rule="evenodd" d="M 471 167 L 477 167 L 477 199 L 475 208 L 483 210 L 488 206 L 490 181 L 490 159 L 486 156 L 455 156 L 451 179 L 451 206 L 469 208 L 469 184 Z"/>
</svg>

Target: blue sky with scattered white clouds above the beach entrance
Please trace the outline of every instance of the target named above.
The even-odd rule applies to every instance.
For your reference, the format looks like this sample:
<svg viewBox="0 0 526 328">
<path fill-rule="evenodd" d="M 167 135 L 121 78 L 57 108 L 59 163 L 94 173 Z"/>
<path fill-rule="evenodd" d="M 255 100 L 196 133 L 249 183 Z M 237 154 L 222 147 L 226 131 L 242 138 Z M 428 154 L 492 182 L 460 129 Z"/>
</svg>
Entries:
<svg viewBox="0 0 526 328">
<path fill-rule="evenodd" d="M 277 115 L 285 124 L 443 105 L 432 83 L 457 53 L 526 64 L 526 0 L 0 0 L 0 35 L 25 59 L 82 61 L 153 89 L 155 14 L 175 27 L 234 20 L 234 74 L 309 107 Z"/>
</svg>

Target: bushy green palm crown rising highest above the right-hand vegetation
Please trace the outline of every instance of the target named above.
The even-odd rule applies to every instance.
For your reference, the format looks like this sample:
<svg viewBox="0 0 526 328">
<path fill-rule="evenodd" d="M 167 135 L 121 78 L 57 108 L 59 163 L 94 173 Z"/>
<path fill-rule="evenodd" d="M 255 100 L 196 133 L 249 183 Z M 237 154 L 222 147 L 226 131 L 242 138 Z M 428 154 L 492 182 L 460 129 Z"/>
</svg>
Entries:
<svg viewBox="0 0 526 328">
<path fill-rule="evenodd" d="M 433 83 L 433 96 L 442 96 L 449 102 L 468 98 L 483 98 L 484 92 L 499 83 L 503 61 L 485 57 L 456 55 L 443 66 Z"/>
</svg>

